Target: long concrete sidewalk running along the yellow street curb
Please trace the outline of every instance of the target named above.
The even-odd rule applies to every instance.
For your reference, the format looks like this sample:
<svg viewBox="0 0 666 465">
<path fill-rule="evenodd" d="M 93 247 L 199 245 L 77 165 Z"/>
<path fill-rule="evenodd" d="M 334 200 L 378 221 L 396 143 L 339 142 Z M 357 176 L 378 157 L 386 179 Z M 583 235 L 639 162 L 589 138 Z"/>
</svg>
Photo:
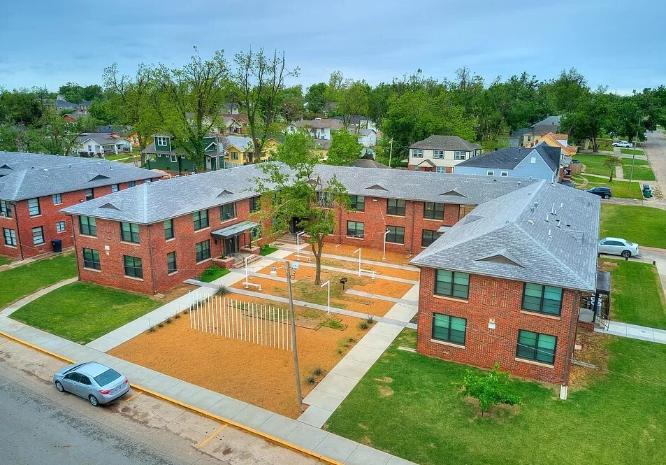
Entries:
<svg viewBox="0 0 666 465">
<path fill-rule="evenodd" d="M 150 389 L 161 396 L 230 420 L 238 427 L 254 429 L 264 437 L 268 436 L 269 441 L 270 438 L 276 438 L 310 451 L 314 455 L 322 455 L 345 465 L 412 464 L 412 462 L 407 462 L 381 450 L 349 441 L 347 438 L 328 431 L 322 431 L 305 422 L 291 420 L 291 418 L 203 389 L 178 378 L 126 362 L 100 350 L 73 343 L 1 315 L 0 331 L 75 362 L 94 360 L 106 364 L 126 375 L 133 385 L 135 383 L 138 385 L 138 389 Z"/>
</svg>

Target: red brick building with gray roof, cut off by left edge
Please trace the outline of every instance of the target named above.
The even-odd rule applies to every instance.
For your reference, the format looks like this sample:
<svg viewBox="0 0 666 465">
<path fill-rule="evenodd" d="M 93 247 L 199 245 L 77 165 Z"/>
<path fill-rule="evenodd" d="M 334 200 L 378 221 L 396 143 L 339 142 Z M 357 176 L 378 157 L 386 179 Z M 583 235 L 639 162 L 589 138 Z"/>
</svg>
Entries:
<svg viewBox="0 0 666 465">
<path fill-rule="evenodd" d="M 16 259 L 73 245 L 61 208 L 157 180 L 152 171 L 104 160 L 0 152 L 0 255 Z"/>
</svg>

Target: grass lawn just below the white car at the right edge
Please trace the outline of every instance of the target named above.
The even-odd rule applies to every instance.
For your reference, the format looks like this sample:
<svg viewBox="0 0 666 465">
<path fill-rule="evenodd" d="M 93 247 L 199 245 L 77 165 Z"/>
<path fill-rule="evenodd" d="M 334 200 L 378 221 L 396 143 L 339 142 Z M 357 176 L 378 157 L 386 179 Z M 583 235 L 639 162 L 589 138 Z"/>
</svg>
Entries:
<svg viewBox="0 0 666 465">
<path fill-rule="evenodd" d="M 611 320 L 666 329 L 666 301 L 654 265 L 613 259 L 599 263 L 611 272 Z"/>
</svg>

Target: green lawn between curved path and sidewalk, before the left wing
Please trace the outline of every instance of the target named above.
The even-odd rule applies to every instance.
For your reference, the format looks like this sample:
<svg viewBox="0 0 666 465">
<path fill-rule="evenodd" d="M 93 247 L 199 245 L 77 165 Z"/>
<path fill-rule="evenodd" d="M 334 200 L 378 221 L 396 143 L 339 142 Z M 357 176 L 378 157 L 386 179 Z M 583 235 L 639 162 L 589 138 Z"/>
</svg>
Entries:
<svg viewBox="0 0 666 465">
<path fill-rule="evenodd" d="M 28 303 L 11 318 L 87 344 L 161 305 L 141 294 L 73 282 Z"/>
</svg>

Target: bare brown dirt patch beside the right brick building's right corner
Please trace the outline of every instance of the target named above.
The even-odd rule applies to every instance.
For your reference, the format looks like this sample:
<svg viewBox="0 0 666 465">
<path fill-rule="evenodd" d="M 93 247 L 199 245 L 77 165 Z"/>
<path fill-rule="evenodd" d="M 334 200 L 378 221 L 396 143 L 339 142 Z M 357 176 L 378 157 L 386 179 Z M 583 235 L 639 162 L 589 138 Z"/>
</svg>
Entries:
<svg viewBox="0 0 666 465">
<path fill-rule="evenodd" d="M 578 332 L 576 344 L 581 346 L 581 350 L 574 351 L 574 358 L 580 362 L 592 364 L 596 369 L 572 364 L 569 373 L 569 384 L 572 391 L 585 389 L 605 377 L 610 357 L 608 345 L 612 337 L 591 331 Z"/>
</svg>

